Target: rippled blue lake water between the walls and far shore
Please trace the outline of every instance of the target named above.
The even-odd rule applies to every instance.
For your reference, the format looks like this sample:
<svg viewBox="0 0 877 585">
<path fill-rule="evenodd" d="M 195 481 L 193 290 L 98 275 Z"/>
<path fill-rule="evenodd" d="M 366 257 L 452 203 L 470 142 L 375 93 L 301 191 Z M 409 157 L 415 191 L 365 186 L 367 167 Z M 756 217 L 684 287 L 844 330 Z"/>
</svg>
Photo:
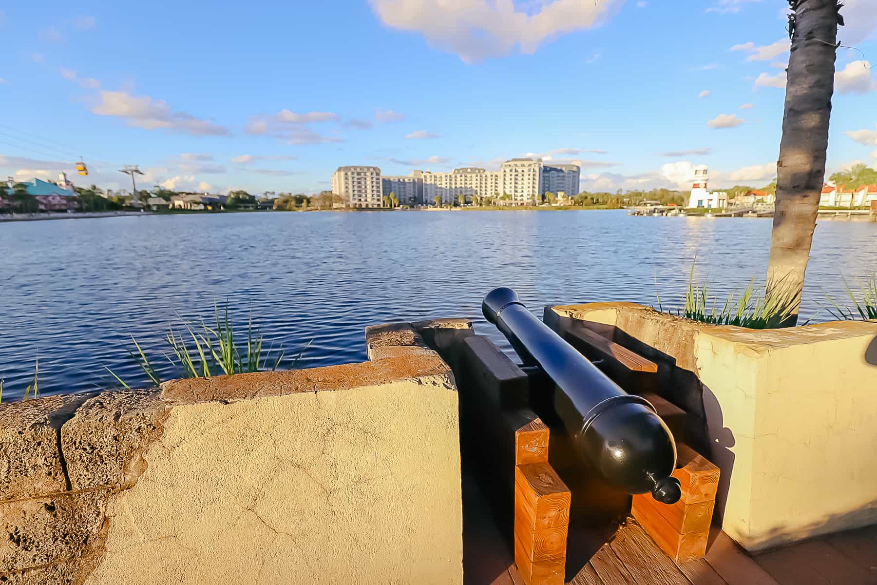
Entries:
<svg viewBox="0 0 877 585">
<path fill-rule="evenodd" d="M 161 335 L 213 317 L 228 299 L 239 330 L 252 312 L 266 345 L 300 366 L 366 360 L 366 325 L 481 318 L 481 297 L 517 289 L 548 303 L 661 301 L 678 307 L 697 273 L 718 295 L 763 275 L 769 219 L 633 218 L 622 211 L 321 212 L 171 215 L 0 224 L 0 378 L 17 399 L 39 357 L 42 394 L 146 376 L 137 338 L 166 375 Z M 802 317 L 829 320 L 824 292 L 877 268 L 877 224 L 816 227 Z M 496 332 L 494 339 L 498 340 Z M 505 344 L 503 344 L 505 346 Z M 164 365 L 162 365 L 162 363 Z M 291 359 L 284 361 L 290 367 Z M 282 365 L 282 367 L 283 367 Z"/>
</svg>

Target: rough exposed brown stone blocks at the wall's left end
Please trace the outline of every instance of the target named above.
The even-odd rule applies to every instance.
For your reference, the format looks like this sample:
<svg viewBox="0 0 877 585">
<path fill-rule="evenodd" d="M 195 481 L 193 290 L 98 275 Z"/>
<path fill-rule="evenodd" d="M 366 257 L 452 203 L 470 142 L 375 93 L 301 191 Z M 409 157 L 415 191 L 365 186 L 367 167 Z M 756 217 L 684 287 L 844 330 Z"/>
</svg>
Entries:
<svg viewBox="0 0 877 585">
<path fill-rule="evenodd" d="M 166 414 L 158 389 L 0 407 L 0 582 L 82 583 Z"/>
</svg>

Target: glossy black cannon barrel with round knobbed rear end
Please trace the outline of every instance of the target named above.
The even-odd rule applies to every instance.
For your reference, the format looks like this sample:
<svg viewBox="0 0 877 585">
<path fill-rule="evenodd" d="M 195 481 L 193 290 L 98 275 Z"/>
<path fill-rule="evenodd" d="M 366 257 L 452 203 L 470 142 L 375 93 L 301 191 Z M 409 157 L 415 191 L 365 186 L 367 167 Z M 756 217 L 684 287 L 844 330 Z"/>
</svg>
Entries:
<svg viewBox="0 0 877 585">
<path fill-rule="evenodd" d="M 610 485 L 628 494 L 652 492 L 663 503 L 681 496 L 672 477 L 676 444 L 667 424 L 645 398 L 627 394 L 508 288 L 491 290 L 481 303 L 526 366 L 538 366 L 556 385 L 553 409 L 575 448 Z"/>
</svg>

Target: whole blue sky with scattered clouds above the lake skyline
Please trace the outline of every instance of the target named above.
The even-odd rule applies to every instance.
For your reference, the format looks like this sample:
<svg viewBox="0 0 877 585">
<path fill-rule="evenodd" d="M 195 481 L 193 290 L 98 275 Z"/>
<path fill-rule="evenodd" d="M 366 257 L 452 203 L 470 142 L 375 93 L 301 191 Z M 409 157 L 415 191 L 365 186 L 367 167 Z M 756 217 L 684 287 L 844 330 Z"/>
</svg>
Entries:
<svg viewBox="0 0 877 585">
<path fill-rule="evenodd" d="M 849 0 L 829 173 L 877 163 L 877 11 Z M 121 3 L 124 4 L 124 3 Z M 773 179 L 785 1 L 44 0 L 0 12 L 0 174 L 316 192 L 339 165 L 581 161 L 582 189 Z M 733 50 L 732 50 L 733 47 Z M 704 92 L 709 92 L 705 94 Z M 76 177 L 72 177 L 76 180 Z"/>
</svg>

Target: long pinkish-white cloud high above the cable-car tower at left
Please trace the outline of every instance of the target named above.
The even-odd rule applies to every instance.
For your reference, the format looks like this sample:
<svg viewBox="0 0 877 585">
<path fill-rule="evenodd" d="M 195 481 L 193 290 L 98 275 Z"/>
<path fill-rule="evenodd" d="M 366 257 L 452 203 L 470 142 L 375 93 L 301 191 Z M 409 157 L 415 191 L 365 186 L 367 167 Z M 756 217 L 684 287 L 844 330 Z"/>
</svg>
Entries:
<svg viewBox="0 0 877 585">
<path fill-rule="evenodd" d="M 132 96 L 125 91 L 100 91 L 100 103 L 91 109 L 98 116 L 122 118 L 125 124 L 145 130 L 163 129 L 192 136 L 220 136 L 228 128 L 183 111 L 172 111 L 164 100 Z"/>
</svg>

